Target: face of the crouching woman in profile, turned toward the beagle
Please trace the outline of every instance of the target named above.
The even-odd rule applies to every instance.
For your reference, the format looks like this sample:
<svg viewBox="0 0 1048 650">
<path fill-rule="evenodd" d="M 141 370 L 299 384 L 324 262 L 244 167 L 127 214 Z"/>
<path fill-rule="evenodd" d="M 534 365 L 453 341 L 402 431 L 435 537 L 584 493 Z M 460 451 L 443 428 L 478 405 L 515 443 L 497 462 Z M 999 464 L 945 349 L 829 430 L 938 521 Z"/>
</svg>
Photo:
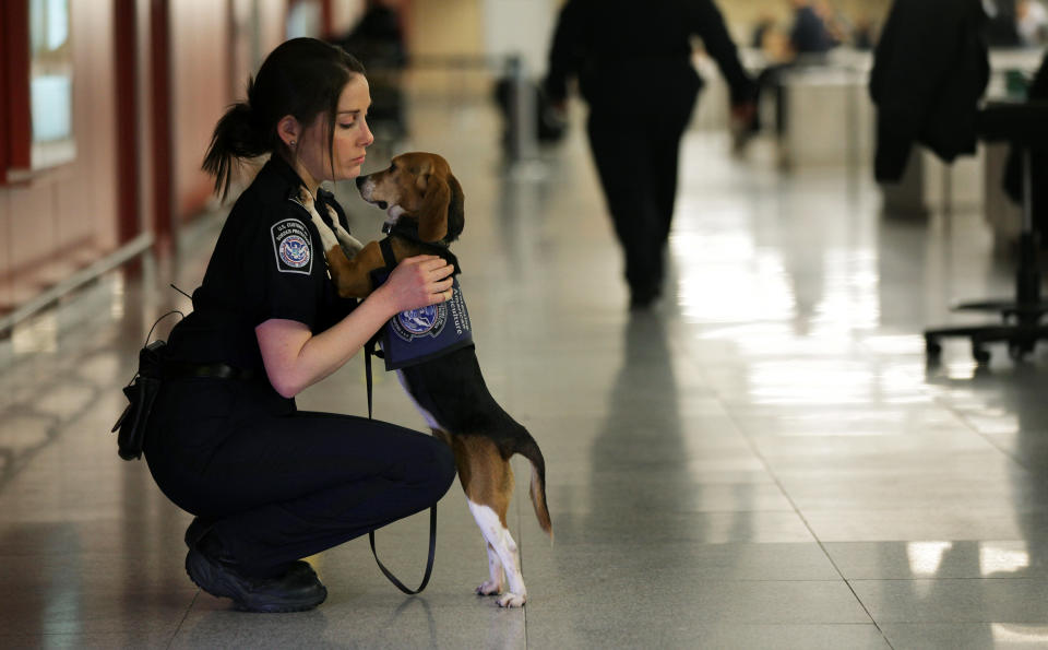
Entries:
<svg viewBox="0 0 1048 650">
<path fill-rule="evenodd" d="M 338 111 L 334 128 L 334 176 L 327 149 L 327 116 L 318 116 L 301 134 L 298 146 L 298 163 L 320 184 L 324 180 L 346 180 L 360 175 L 365 150 L 374 142 L 366 119 L 371 106 L 368 80 L 362 74 L 349 78 L 338 95 Z M 309 182 L 310 179 L 303 178 Z"/>
</svg>

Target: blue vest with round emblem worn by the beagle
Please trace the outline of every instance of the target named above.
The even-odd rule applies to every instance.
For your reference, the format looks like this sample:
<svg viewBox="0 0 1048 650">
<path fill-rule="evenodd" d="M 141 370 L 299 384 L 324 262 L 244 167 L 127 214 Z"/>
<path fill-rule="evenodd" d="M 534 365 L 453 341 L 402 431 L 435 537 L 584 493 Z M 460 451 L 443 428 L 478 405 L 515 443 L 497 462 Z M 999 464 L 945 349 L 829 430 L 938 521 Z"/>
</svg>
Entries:
<svg viewBox="0 0 1048 650">
<path fill-rule="evenodd" d="M 397 234 L 405 235 L 401 232 Z M 382 249 L 385 268 L 371 272 L 374 286 L 385 282 L 396 267 L 390 239 L 382 239 L 379 246 Z M 454 274 L 457 275 L 458 261 L 455 256 L 446 248 L 437 248 L 439 250 L 434 252 L 454 265 Z M 380 341 L 386 370 L 414 366 L 472 345 L 473 328 L 469 323 L 469 312 L 466 310 L 466 300 L 462 296 L 462 287 L 458 286 L 458 279 L 453 280 L 451 299 L 397 314 L 382 328 Z"/>
</svg>

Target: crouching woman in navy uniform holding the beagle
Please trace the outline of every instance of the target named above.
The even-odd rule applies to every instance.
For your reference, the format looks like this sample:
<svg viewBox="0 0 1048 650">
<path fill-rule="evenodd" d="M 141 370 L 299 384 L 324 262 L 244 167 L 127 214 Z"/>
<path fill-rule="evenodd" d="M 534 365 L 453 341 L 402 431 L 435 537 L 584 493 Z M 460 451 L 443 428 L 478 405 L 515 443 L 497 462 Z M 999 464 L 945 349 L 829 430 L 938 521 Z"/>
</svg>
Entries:
<svg viewBox="0 0 1048 650">
<path fill-rule="evenodd" d="M 337 297 L 299 187 L 344 222 L 325 180 L 356 177 L 373 141 L 360 63 L 311 38 L 284 43 L 215 127 L 204 169 L 225 197 L 234 165 L 269 154 L 223 226 L 193 311 L 171 331 L 144 444 L 157 485 L 196 518 L 186 569 L 241 610 L 309 610 L 327 591 L 299 558 L 433 505 L 448 447 L 418 432 L 307 413 L 295 395 L 353 357 L 393 315 L 451 296 L 452 268 L 404 260 L 367 299 Z"/>
</svg>

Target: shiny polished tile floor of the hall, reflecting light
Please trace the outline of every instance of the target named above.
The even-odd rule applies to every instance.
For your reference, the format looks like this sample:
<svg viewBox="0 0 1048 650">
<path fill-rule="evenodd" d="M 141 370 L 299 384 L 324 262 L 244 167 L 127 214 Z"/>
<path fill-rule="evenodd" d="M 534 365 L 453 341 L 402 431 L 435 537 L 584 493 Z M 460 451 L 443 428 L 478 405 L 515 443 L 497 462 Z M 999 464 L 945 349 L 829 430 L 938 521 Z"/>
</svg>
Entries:
<svg viewBox="0 0 1048 650">
<path fill-rule="evenodd" d="M 631 314 L 581 130 L 512 174 L 497 131 L 487 106 L 438 106 L 413 145 L 465 188 L 478 354 L 548 462 L 552 545 L 517 465 L 527 606 L 473 594 L 487 563 L 457 487 L 420 596 L 365 540 L 311 558 L 330 590 L 313 612 L 238 613 L 187 579 L 189 516 L 109 427 L 216 217 L 177 263 L 103 279 L 0 344 L 0 646 L 1048 647 L 1048 363 L 998 350 L 975 373 L 961 342 L 924 362 L 953 298 L 1010 292 L 980 214 L 893 222 L 866 172 L 784 175 L 759 142 L 736 158 L 692 132 L 667 295 Z M 377 234 L 381 214 L 345 202 Z M 378 416 L 421 427 L 378 381 Z M 299 404 L 364 412 L 360 359 Z M 417 580 L 425 516 L 378 539 Z"/>
</svg>

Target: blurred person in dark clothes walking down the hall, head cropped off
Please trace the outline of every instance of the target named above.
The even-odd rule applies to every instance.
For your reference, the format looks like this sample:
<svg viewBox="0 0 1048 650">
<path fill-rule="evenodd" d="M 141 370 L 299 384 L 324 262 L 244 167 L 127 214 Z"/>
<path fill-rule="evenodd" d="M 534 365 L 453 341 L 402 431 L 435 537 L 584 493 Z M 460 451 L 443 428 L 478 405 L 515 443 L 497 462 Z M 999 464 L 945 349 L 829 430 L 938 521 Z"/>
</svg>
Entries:
<svg viewBox="0 0 1048 650">
<path fill-rule="evenodd" d="M 633 308 L 662 291 L 680 139 L 703 85 L 691 63 L 693 36 L 717 61 L 736 115 L 750 119 L 754 86 L 712 0 L 569 0 L 549 51 L 550 101 L 562 104 L 576 78 L 590 106 L 590 145 Z"/>
</svg>

